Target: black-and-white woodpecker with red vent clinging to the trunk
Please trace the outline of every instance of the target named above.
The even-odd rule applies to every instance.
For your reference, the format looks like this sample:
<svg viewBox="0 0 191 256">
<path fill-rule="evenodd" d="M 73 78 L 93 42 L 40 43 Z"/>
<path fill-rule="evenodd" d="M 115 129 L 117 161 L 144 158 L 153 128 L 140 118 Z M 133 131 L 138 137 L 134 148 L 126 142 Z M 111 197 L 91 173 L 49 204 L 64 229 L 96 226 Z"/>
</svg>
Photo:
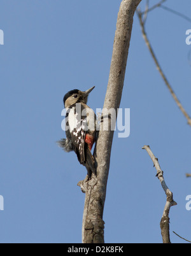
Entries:
<svg viewBox="0 0 191 256">
<path fill-rule="evenodd" d="M 96 116 L 87 106 L 88 94 L 94 87 L 82 92 L 70 90 L 64 96 L 66 108 L 66 139 L 58 141 L 65 152 L 74 151 L 80 164 L 87 169 L 88 178 L 95 172 L 95 162 L 91 150 L 96 137 Z"/>
</svg>

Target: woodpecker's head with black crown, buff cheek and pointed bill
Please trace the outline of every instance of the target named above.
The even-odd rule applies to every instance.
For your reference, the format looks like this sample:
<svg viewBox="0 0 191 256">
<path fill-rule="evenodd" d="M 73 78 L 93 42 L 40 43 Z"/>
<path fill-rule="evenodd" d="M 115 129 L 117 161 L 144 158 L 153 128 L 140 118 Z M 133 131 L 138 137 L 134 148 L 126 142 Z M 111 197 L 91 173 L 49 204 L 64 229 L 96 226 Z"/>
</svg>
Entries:
<svg viewBox="0 0 191 256">
<path fill-rule="evenodd" d="M 77 89 L 70 90 L 69 92 L 67 92 L 67 94 L 65 94 L 63 99 L 65 108 L 69 108 L 70 106 L 76 103 L 87 104 L 88 94 L 92 92 L 94 87 L 86 90 L 85 92 L 81 92 L 81 90 L 77 90 Z"/>
</svg>

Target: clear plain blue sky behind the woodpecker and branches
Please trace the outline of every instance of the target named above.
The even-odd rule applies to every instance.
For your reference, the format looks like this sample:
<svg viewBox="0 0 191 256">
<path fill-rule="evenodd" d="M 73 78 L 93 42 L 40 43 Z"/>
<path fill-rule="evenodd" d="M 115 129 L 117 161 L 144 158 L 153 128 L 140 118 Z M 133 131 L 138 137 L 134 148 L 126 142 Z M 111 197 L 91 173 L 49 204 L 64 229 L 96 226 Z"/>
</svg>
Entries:
<svg viewBox="0 0 191 256">
<path fill-rule="evenodd" d="M 190 16 L 189 0 L 165 5 Z M 77 183 L 86 170 L 55 141 L 65 137 L 61 111 L 68 90 L 95 85 L 88 105 L 103 107 L 119 6 L 113 0 L 1 1 L 0 243 L 81 243 L 85 195 Z M 161 8 L 146 22 L 159 62 L 191 115 L 187 29 L 187 20 Z M 131 109 L 131 134 L 118 138 L 116 132 L 113 139 L 105 242 L 162 242 L 166 195 L 141 150 L 150 145 L 178 203 L 169 215 L 171 242 L 184 243 L 173 231 L 191 239 L 191 211 L 185 208 L 191 194 L 185 178 L 191 173 L 191 127 L 155 68 L 136 16 L 120 107 Z"/>
</svg>

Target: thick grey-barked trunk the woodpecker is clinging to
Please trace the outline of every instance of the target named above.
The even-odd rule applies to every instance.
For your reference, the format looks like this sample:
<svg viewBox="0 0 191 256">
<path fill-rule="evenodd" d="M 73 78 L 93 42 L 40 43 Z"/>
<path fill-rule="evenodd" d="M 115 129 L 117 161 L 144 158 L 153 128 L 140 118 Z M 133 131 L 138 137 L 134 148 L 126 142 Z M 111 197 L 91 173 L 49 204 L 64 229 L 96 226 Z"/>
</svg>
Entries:
<svg viewBox="0 0 191 256">
<path fill-rule="evenodd" d="M 116 111 L 120 106 L 124 87 L 125 69 L 131 40 L 134 12 L 141 0 L 123 0 L 117 18 L 117 29 L 113 43 L 110 76 L 103 108 Z M 117 113 L 117 112 L 116 112 Z M 110 127 L 110 118 L 108 118 Z M 97 165 L 97 177 L 78 183 L 85 192 L 85 206 L 83 212 L 82 242 L 104 243 L 103 210 L 106 199 L 106 185 L 110 168 L 111 146 L 113 132 L 99 131 L 95 144 L 94 157 Z"/>
</svg>

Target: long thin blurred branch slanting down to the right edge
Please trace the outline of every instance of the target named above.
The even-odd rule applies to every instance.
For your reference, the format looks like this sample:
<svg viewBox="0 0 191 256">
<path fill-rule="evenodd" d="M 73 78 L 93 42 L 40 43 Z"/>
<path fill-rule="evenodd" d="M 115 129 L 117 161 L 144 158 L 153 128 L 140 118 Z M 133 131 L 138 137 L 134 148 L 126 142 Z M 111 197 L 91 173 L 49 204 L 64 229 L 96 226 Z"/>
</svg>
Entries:
<svg viewBox="0 0 191 256">
<path fill-rule="evenodd" d="M 170 83 L 168 82 L 166 76 L 164 75 L 164 72 L 162 71 L 162 68 L 160 67 L 159 61 L 157 60 L 157 57 L 153 51 L 152 45 L 150 44 L 150 41 L 148 40 L 148 36 L 146 35 L 146 31 L 145 31 L 145 24 L 143 22 L 142 19 L 142 15 L 141 15 L 141 11 L 137 11 L 138 13 L 138 18 L 139 18 L 139 23 L 141 25 L 141 30 L 142 30 L 142 34 L 143 34 L 143 38 L 145 39 L 145 43 L 148 46 L 148 50 L 150 51 L 153 60 L 157 66 L 157 69 L 160 73 L 160 76 L 162 76 L 162 79 L 164 80 L 164 82 L 166 83 L 167 89 L 169 89 L 169 92 L 171 93 L 171 96 L 173 96 L 174 101 L 176 102 L 176 104 L 178 105 L 178 108 L 180 108 L 181 112 L 183 113 L 183 115 L 185 116 L 185 118 L 187 118 L 188 124 L 191 126 L 191 118 L 188 115 L 187 111 L 183 108 L 182 104 L 180 103 L 178 97 L 176 96 L 173 88 L 171 87 Z"/>
</svg>

